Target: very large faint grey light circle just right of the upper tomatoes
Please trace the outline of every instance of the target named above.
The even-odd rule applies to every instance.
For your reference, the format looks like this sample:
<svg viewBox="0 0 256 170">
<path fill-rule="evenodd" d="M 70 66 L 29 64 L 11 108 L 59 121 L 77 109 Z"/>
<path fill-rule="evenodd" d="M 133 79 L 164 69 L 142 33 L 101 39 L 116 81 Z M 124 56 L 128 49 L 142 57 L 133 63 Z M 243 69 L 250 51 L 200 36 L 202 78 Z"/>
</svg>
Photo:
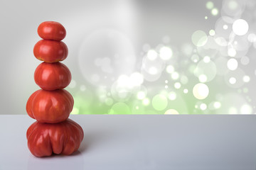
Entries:
<svg viewBox="0 0 256 170">
<path fill-rule="evenodd" d="M 82 76 L 96 86 L 111 86 L 136 63 L 132 42 L 117 30 L 97 30 L 82 42 L 78 58 Z"/>
</svg>

